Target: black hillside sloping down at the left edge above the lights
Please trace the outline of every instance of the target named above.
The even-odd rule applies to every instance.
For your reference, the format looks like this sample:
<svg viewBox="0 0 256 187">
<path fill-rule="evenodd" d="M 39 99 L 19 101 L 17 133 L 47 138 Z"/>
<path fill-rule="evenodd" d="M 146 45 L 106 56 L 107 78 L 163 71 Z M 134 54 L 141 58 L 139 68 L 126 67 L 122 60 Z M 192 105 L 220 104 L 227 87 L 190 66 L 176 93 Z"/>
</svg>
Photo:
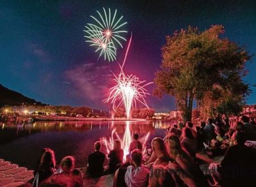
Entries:
<svg viewBox="0 0 256 187">
<path fill-rule="evenodd" d="M 22 105 L 24 104 L 34 104 L 36 105 L 44 105 L 41 102 L 36 101 L 35 99 L 31 99 L 26 97 L 19 92 L 9 90 L 8 88 L 2 86 L 0 84 L 0 106 L 2 105 Z"/>
</svg>

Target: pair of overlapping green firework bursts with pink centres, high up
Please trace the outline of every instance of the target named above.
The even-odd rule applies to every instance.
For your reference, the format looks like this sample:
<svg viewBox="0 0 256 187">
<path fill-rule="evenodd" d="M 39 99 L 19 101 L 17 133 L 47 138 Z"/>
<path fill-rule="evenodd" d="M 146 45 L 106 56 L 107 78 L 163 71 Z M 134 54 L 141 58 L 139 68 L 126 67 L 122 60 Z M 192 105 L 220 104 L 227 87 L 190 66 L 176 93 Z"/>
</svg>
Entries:
<svg viewBox="0 0 256 187">
<path fill-rule="evenodd" d="M 117 55 L 116 44 L 122 48 L 121 40 L 126 41 L 125 37 L 121 35 L 127 31 L 121 28 L 123 25 L 127 24 L 127 22 L 122 22 L 123 16 L 119 19 L 116 18 L 117 10 L 114 11 L 114 15 L 110 8 L 108 12 L 105 8 L 103 8 L 103 10 L 104 14 L 97 11 L 100 18 L 90 16 L 93 18 L 95 24 L 88 23 L 85 26 L 86 42 L 90 42 L 90 46 L 97 47 L 95 52 L 100 51 L 99 58 L 104 54 L 104 59 L 108 58 L 109 61 L 114 61 Z"/>
</svg>

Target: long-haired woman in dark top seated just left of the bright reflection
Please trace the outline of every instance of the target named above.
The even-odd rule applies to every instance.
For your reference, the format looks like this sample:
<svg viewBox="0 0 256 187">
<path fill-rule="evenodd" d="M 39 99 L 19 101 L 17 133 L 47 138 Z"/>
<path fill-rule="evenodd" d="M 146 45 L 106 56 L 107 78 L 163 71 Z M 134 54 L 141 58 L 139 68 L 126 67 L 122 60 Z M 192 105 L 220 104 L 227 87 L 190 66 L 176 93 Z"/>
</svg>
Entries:
<svg viewBox="0 0 256 187">
<path fill-rule="evenodd" d="M 123 150 L 121 148 L 121 142 L 115 139 L 113 150 L 109 152 L 109 165 L 105 174 L 114 173 L 117 170 L 117 166 L 123 163 Z"/>
</svg>

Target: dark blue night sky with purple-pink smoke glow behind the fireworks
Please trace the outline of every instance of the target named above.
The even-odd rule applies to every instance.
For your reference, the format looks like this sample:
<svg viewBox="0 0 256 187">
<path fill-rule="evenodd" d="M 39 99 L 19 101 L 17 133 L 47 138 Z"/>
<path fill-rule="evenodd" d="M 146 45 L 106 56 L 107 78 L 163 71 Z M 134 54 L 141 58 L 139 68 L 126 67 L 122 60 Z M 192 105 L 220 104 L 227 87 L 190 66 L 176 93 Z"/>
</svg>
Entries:
<svg viewBox="0 0 256 187">
<path fill-rule="evenodd" d="M 197 26 L 225 27 L 224 37 L 256 53 L 255 1 L 0 1 L 0 83 L 11 90 L 52 105 L 85 105 L 109 109 L 102 103 L 113 86 L 117 62 L 104 61 L 85 43 L 83 31 L 102 7 L 115 8 L 133 32 L 125 72 L 148 82 L 161 62 L 165 36 Z M 126 35 L 128 39 L 130 34 Z M 127 43 L 123 43 L 126 48 Z M 122 62 L 125 49 L 118 49 Z M 256 57 L 247 63 L 245 81 L 255 84 Z M 256 103 L 256 88 L 247 99 Z M 152 86 L 148 87 L 152 91 Z M 174 100 L 148 96 L 156 111 L 175 109 Z"/>
</svg>

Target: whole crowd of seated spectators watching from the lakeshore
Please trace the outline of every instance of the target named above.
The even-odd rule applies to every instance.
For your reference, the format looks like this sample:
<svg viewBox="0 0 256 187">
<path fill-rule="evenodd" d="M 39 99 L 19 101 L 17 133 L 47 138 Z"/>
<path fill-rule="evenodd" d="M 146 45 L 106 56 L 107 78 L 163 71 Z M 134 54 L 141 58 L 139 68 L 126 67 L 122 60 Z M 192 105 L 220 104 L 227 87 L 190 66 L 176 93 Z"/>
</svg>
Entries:
<svg viewBox="0 0 256 187">
<path fill-rule="evenodd" d="M 165 137 L 151 141 L 152 154 L 144 159 L 139 135 L 134 134 L 129 154 L 123 155 L 119 140 L 114 141 L 108 155 L 101 152 L 101 142 L 94 143 L 88 156 L 86 175 L 98 178 L 114 175 L 113 186 L 255 186 L 256 125 L 241 116 L 236 124 L 209 118 L 194 125 L 179 123 L 167 129 Z M 197 152 L 209 158 L 224 155 L 221 163 L 209 165 L 209 173 L 199 167 Z M 125 156 L 125 162 L 123 158 Z M 108 158 L 108 165 L 104 166 Z M 31 184 L 40 186 L 83 186 L 82 173 L 75 159 L 67 156 L 55 168 L 55 154 L 45 148 Z M 65 184 L 65 185 L 64 185 Z"/>
</svg>

